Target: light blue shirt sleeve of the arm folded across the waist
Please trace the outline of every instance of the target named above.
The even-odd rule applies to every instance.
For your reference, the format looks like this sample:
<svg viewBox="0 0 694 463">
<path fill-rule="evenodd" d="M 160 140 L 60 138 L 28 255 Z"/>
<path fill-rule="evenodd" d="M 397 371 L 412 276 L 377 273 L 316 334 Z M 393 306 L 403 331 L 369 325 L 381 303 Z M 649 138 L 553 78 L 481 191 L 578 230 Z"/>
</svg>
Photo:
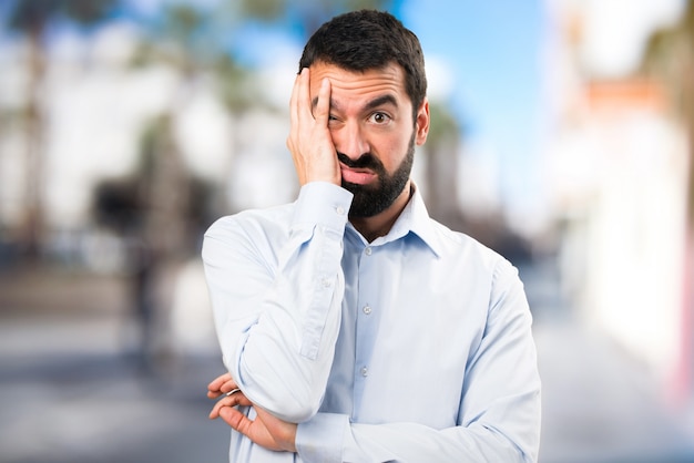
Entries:
<svg viewBox="0 0 694 463">
<path fill-rule="evenodd" d="M 458 425 L 437 430 L 417 423 L 364 424 L 351 423 L 346 414 L 318 413 L 298 426 L 302 460 L 535 462 L 541 405 L 530 310 L 507 261 L 493 279 L 484 336 L 466 370 Z M 417 393 L 436 393 L 436 379 L 431 391 Z"/>
</svg>

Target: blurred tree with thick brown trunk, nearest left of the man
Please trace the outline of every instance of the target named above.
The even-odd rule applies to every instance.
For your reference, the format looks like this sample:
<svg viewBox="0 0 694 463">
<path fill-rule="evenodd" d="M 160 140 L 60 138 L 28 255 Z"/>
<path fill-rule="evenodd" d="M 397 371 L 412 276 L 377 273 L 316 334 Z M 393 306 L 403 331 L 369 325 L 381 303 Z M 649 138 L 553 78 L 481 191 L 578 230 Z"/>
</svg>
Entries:
<svg viewBox="0 0 694 463">
<path fill-rule="evenodd" d="M 165 3 L 133 56 L 134 66 L 164 64 L 178 75 L 166 113 L 143 132 L 136 173 L 144 213 L 140 232 L 156 261 L 186 257 L 200 234 L 195 225 L 204 225 L 191 223 L 192 212 L 207 206 L 192 202 L 207 196 L 198 194 L 201 181 L 193 178 L 185 165 L 176 136 L 192 99 L 200 91 L 213 90 L 233 120 L 264 102 L 252 70 L 242 66 L 228 47 L 228 37 L 247 20 L 243 6 L 237 1 Z M 262 18 L 274 19 L 266 10 Z M 229 147 L 229 156 L 234 151 Z M 224 192 L 223 185 L 213 187 L 217 194 Z"/>
</svg>

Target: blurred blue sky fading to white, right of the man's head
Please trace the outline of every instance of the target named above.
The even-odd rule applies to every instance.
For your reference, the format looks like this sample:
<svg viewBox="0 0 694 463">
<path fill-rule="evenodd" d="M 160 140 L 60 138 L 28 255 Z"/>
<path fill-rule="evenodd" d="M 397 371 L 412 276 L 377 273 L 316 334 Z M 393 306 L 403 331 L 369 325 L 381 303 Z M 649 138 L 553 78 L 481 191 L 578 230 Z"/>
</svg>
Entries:
<svg viewBox="0 0 694 463">
<path fill-rule="evenodd" d="M 498 194 L 509 209 L 523 214 L 535 207 L 542 0 L 408 0 L 401 19 L 422 43 L 433 74 L 430 96 L 450 92 L 451 110 L 463 124 L 466 155 L 499 176 Z M 439 68 L 450 74 L 438 76 Z"/>
</svg>

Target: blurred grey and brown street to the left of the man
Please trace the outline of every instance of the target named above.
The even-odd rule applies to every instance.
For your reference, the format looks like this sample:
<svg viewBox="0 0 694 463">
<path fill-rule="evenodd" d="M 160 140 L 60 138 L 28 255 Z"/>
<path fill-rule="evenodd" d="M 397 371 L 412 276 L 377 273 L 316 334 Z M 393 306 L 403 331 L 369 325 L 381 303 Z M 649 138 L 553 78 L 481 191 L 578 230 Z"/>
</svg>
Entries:
<svg viewBox="0 0 694 463">
<path fill-rule="evenodd" d="M 0 462 L 227 461 L 205 398 L 218 356 L 147 366 L 123 281 L 39 274 L 0 278 Z"/>
</svg>

